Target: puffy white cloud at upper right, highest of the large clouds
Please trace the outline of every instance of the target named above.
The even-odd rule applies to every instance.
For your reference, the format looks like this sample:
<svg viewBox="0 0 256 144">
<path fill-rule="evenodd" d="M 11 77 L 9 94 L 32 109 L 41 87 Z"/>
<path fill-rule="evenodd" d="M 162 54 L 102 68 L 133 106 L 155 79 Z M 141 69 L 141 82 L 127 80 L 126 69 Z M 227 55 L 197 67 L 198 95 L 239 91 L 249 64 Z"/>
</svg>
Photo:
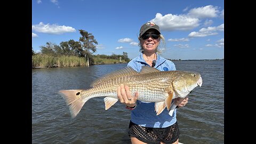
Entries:
<svg viewBox="0 0 256 144">
<path fill-rule="evenodd" d="M 194 18 L 214 18 L 219 13 L 217 6 L 207 5 L 189 10 L 188 15 Z"/>
</svg>

